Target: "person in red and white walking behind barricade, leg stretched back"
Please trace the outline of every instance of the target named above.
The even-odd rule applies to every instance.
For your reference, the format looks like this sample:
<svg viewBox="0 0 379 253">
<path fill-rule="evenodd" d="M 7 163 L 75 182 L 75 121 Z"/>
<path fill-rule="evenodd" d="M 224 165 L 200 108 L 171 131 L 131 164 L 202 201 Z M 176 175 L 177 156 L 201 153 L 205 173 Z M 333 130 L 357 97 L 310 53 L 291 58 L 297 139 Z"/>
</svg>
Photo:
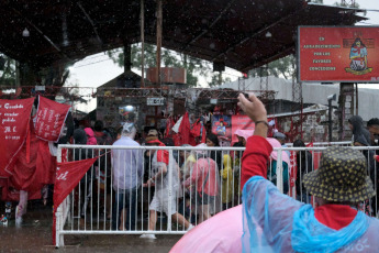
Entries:
<svg viewBox="0 0 379 253">
<path fill-rule="evenodd" d="M 145 140 L 146 146 L 165 146 L 157 136 L 147 136 Z M 157 222 L 157 212 L 165 212 L 171 216 L 171 220 L 178 224 L 183 224 L 187 231 L 191 230 L 193 226 L 186 220 L 186 218 L 177 211 L 177 198 L 180 191 L 180 170 L 172 155 L 166 150 L 148 150 L 147 155 L 153 156 L 151 162 L 151 178 L 144 184 L 144 187 L 155 185 L 153 200 L 148 207 L 148 233 L 142 234 L 141 238 L 156 239 L 154 234 L 155 226 Z M 169 190 L 169 174 L 168 169 L 172 169 L 171 196 L 168 195 Z M 171 208 L 169 210 L 169 201 Z"/>
</svg>

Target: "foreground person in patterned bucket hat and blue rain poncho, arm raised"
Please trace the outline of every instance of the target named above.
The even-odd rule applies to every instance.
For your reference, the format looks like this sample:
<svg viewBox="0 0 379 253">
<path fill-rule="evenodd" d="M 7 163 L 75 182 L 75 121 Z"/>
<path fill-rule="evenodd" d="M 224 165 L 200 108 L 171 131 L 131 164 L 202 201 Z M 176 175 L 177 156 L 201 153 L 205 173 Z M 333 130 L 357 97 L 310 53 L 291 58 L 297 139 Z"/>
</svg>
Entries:
<svg viewBox="0 0 379 253">
<path fill-rule="evenodd" d="M 365 156 L 326 148 L 320 168 L 303 179 L 315 208 L 289 198 L 266 179 L 272 146 L 265 106 L 255 95 L 238 100 L 256 125 L 242 161 L 243 252 L 378 252 L 379 221 L 356 209 L 375 195 Z"/>
</svg>

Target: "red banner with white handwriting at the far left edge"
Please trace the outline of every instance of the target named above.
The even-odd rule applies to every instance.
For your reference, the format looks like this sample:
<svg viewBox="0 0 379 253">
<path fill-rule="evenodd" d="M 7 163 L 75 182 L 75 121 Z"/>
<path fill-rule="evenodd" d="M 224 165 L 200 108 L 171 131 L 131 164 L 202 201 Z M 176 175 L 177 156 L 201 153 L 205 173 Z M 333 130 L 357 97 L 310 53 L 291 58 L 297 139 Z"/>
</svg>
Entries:
<svg viewBox="0 0 379 253">
<path fill-rule="evenodd" d="M 9 167 L 26 140 L 33 102 L 34 98 L 0 99 L 0 176 L 12 174 Z"/>
</svg>

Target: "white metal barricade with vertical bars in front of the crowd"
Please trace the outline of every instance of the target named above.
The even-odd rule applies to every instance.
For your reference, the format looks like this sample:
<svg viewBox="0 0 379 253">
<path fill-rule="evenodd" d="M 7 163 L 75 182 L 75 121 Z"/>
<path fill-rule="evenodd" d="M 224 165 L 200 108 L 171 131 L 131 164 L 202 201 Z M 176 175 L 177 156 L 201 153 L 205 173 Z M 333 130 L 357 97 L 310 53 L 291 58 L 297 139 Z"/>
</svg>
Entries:
<svg viewBox="0 0 379 253">
<path fill-rule="evenodd" d="M 277 161 L 268 163 L 268 179 L 281 193 L 312 202 L 301 187 L 302 176 L 317 168 L 324 148 L 275 148 Z M 65 234 L 183 234 L 241 204 L 244 147 L 59 145 L 58 162 L 63 150 L 68 162 L 101 156 L 58 207 L 56 246 L 64 245 Z M 298 153 L 302 173 L 297 179 L 282 162 L 287 151 Z"/>
</svg>

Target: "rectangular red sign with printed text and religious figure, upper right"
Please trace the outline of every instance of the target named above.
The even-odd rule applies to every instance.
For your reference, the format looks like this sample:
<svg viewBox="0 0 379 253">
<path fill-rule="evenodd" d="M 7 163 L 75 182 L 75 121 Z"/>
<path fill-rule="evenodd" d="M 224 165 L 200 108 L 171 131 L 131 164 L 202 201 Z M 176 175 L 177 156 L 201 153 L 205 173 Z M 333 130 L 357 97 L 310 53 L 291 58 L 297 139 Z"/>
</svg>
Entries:
<svg viewBox="0 0 379 253">
<path fill-rule="evenodd" d="M 299 28 L 300 81 L 379 81 L 379 28 Z"/>
</svg>

